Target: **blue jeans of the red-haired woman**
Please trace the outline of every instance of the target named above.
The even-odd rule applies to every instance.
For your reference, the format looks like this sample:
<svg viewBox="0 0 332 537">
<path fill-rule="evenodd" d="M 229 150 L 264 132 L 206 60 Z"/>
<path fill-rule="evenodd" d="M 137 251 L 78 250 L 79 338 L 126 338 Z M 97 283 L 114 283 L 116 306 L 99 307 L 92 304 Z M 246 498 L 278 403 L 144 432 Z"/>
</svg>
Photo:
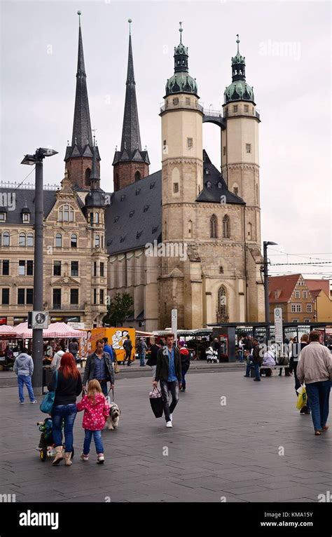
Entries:
<svg viewBox="0 0 332 537">
<path fill-rule="evenodd" d="M 64 443 L 66 451 L 73 451 L 73 428 L 77 410 L 75 403 L 71 405 L 56 405 L 52 410 L 52 429 L 55 447 L 62 446 L 62 419 L 64 421 Z"/>
</svg>

